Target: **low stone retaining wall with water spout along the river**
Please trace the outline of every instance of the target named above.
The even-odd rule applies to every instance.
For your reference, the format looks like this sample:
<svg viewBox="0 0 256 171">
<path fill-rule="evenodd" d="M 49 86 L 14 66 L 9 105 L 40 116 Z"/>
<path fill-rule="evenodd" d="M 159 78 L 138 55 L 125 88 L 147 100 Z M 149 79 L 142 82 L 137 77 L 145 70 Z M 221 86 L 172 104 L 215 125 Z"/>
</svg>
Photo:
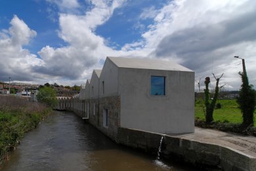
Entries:
<svg viewBox="0 0 256 171">
<path fill-rule="evenodd" d="M 199 168 L 256 170 L 254 157 L 220 145 L 127 128 L 118 128 L 116 142 L 156 155 L 162 136 L 164 137 L 161 149 L 162 158 L 188 162 Z"/>
</svg>

